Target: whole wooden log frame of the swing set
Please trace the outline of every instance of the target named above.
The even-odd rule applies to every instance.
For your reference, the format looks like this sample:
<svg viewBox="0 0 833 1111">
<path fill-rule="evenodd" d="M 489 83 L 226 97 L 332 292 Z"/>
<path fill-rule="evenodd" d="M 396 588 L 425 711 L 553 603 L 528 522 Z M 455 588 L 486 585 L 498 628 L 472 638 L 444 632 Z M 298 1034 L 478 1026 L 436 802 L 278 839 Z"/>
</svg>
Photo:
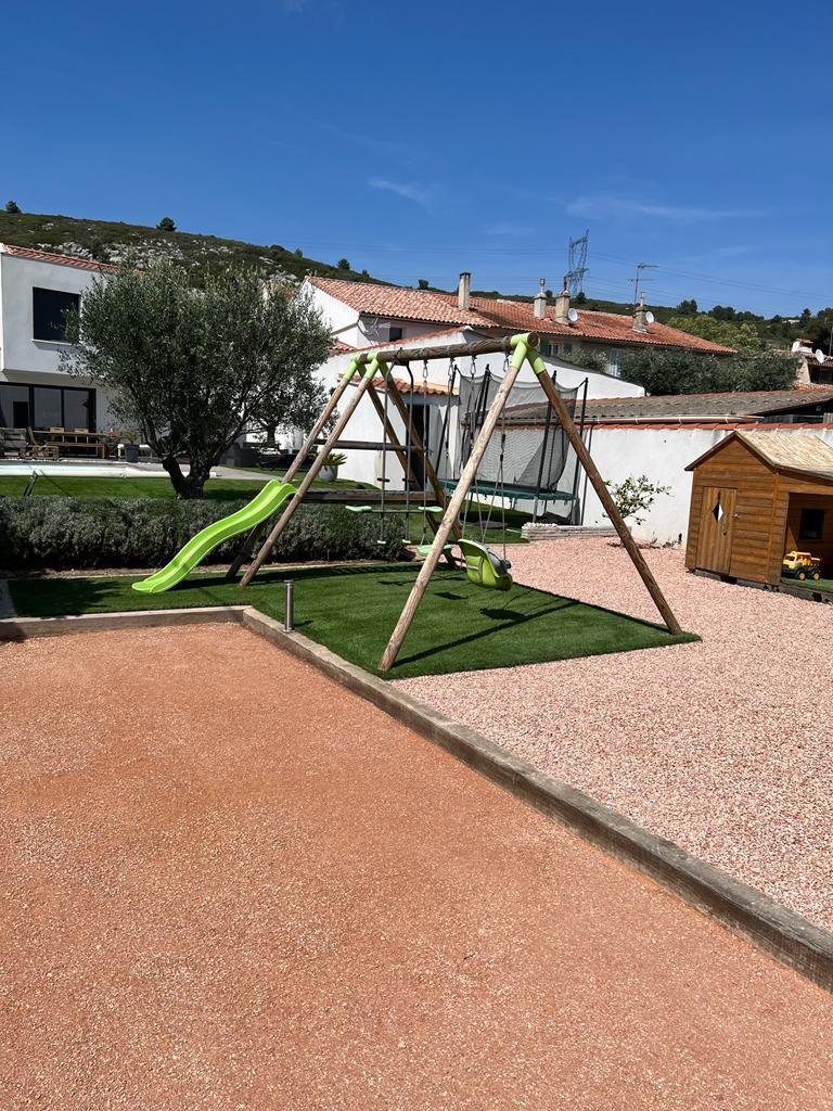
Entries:
<svg viewBox="0 0 833 1111">
<path fill-rule="evenodd" d="M 425 557 L 422 563 L 419 574 L 416 575 L 416 581 L 414 582 L 408 601 L 400 613 L 397 627 L 391 633 L 391 638 L 388 641 L 388 647 L 385 648 L 382 659 L 379 663 L 380 671 L 390 671 L 393 667 L 397 657 L 402 648 L 402 643 L 408 635 L 408 630 L 411 628 L 413 620 L 416 615 L 416 610 L 419 609 L 420 602 L 422 601 L 428 584 L 431 580 L 431 575 L 434 573 L 436 564 L 443 556 L 443 550 L 449 541 L 449 537 L 453 536 L 455 540 L 461 539 L 460 531 L 460 511 L 463 508 L 463 503 L 469 494 L 469 489 L 474 482 L 475 476 L 478 473 L 478 468 L 483 454 L 489 446 L 489 441 L 494 432 L 498 421 L 500 420 L 501 413 L 509 400 L 509 394 L 514 386 L 518 376 L 523 368 L 525 362 L 529 362 L 530 367 L 535 373 L 539 384 L 546 400 L 552 406 L 553 412 L 558 418 L 559 423 L 564 429 L 564 433 L 570 441 L 571 447 L 575 451 L 579 462 L 584 468 L 584 472 L 590 480 L 593 490 L 595 491 L 599 500 L 601 501 L 605 513 L 608 514 L 613 528 L 619 533 L 619 538 L 622 541 L 624 549 L 633 561 L 633 565 L 636 568 L 640 578 L 645 584 L 645 589 L 651 595 L 656 609 L 665 622 L 669 632 L 678 634 L 682 632 L 679 621 L 674 617 L 674 613 L 669 605 L 665 595 L 660 589 L 659 583 L 654 579 L 651 569 L 649 568 L 645 559 L 636 546 L 628 526 L 622 518 L 622 514 L 613 500 L 610 490 L 604 483 L 602 476 L 599 473 L 593 459 L 588 451 L 579 431 L 575 428 L 570 411 L 564 403 L 561 393 L 550 379 L 546 372 L 546 366 L 541 358 L 539 350 L 539 337 L 535 332 L 528 332 L 524 334 L 518 334 L 508 337 L 505 339 L 489 339 L 482 340 L 476 343 L 454 343 L 446 347 L 432 347 L 432 348 L 399 348 L 391 351 L 380 351 L 377 354 L 361 353 L 357 354 L 341 378 L 335 390 L 331 394 L 327 406 L 321 412 L 321 416 L 315 421 L 315 424 L 310 432 L 310 434 L 304 440 L 298 454 L 295 456 L 292 466 L 287 471 L 285 480 L 290 481 L 300 470 L 302 463 L 307 459 L 310 450 L 315 444 L 318 437 L 321 434 L 322 430 L 325 428 L 327 422 L 330 420 L 332 414 L 335 412 L 339 400 L 344 394 L 348 387 L 355 381 L 357 373 L 361 374 L 360 381 L 355 388 L 355 392 L 350 398 L 344 411 L 338 417 L 333 430 L 330 432 L 323 447 L 320 449 L 318 456 L 312 461 L 312 464 L 303 478 L 303 481 L 298 488 L 298 493 L 292 498 L 287 508 L 283 510 L 280 519 L 278 520 L 274 528 L 271 530 L 269 536 L 263 540 L 258 554 L 252 561 L 251 565 L 243 575 L 240 585 L 248 587 L 252 581 L 254 575 L 258 573 L 260 568 L 263 565 L 264 561 L 269 557 L 275 541 L 280 534 L 285 529 L 287 524 L 298 510 L 298 507 L 303 503 L 304 497 L 307 496 L 310 487 L 314 482 L 319 471 L 324 464 L 330 451 L 332 451 L 339 443 L 339 438 L 344 431 L 347 426 L 350 423 L 350 419 L 355 412 L 361 399 L 365 393 L 370 396 L 371 401 L 379 414 L 382 426 L 384 428 L 384 434 L 388 437 L 392 449 L 394 450 L 397 457 L 402 463 L 402 468 L 405 473 L 409 473 L 412 479 L 416 479 L 413 471 L 411 452 L 409 448 L 400 442 L 397 437 L 395 430 L 392 428 L 390 420 L 385 417 L 384 406 L 374 386 L 374 379 L 381 377 L 384 380 L 385 389 L 389 391 L 390 399 L 393 401 L 393 406 L 400 413 L 403 421 L 408 424 L 408 407 L 405 406 L 402 394 L 399 391 L 395 379 L 393 377 L 394 367 L 407 367 L 411 362 L 424 362 L 430 359 L 451 359 L 451 358 L 462 358 L 465 356 L 478 356 L 478 354 L 493 354 L 493 353 L 506 353 L 510 356 L 509 366 L 506 372 L 503 377 L 503 381 L 495 393 L 489 411 L 485 414 L 483 424 L 478 433 L 478 437 L 472 444 L 471 454 L 463 468 L 460 479 L 453 490 L 450 498 L 446 497 L 445 491 L 440 484 L 436 473 L 431 464 L 428 452 L 425 451 L 422 441 L 420 440 L 418 433 L 411 429 L 412 444 L 411 447 L 421 454 L 424 466 L 424 477 L 431 486 L 436 501 L 440 506 L 444 507 L 444 513 L 442 521 L 436 524 L 432 521 L 432 527 L 435 528 L 433 542 L 431 544 L 431 550 Z M 362 372 L 362 367 L 364 371 Z M 449 404 L 451 399 L 449 399 Z M 255 542 L 255 537 L 250 534 L 247 543 L 241 549 L 237 560 L 229 569 L 229 575 L 237 573 L 238 569 L 242 562 L 248 558 L 249 551 L 252 549 Z"/>
</svg>

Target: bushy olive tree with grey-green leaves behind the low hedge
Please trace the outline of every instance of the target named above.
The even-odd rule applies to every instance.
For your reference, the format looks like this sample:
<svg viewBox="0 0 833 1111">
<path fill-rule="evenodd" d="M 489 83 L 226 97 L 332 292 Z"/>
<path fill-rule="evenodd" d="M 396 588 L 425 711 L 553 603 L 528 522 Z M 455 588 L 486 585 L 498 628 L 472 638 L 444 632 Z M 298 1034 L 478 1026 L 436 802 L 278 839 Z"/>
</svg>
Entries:
<svg viewBox="0 0 833 1111">
<path fill-rule="evenodd" d="M 194 289 L 170 259 L 126 264 L 68 314 L 67 338 L 70 372 L 113 391 L 117 416 L 141 428 L 180 498 L 202 497 L 245 428 L 309 429 L 323 404 L 312 372 L 329 329 L 309 297 L 264 286 L 253 270 L 210 274 Z"/>
</svg>

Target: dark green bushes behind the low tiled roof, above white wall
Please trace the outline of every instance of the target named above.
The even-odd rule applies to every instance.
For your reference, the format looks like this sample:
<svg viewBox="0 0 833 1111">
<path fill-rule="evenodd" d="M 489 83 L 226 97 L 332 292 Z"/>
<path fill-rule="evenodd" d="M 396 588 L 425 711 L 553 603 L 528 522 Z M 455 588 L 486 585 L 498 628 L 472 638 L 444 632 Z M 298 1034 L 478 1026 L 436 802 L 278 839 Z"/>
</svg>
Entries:
<svg viewBox="0 0 833 1111">
<path fill-rule="evenodd" d="M 685 348 L 644 348 L 622 356 L 622 377 L 652 394 L 787 390 L 795 373 L 795 358 L 774 351 L 715 358 Z"/>
</svg>

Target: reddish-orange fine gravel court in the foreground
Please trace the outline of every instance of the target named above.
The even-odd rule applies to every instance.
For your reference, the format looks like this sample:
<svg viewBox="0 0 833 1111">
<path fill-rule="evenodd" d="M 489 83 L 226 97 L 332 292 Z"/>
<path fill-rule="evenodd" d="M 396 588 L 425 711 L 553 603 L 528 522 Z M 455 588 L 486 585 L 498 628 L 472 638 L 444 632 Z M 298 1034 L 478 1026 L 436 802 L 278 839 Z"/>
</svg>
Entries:
<svg viewBox="0 0 833 1111">
<path fill-rule="evenodd" d="M 830 1111 L 833 997 L 247 630 L 0 683 L 3 1111 Z"/>
</svg>

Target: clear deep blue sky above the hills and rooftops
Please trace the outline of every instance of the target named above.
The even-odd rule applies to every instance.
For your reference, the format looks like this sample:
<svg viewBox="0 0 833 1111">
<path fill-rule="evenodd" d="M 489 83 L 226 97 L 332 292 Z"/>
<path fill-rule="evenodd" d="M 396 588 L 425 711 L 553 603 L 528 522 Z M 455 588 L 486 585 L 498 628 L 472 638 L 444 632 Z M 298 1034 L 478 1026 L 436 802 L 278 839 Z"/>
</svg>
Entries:
<svg viewBox="0 0 833 1111">
<path fill-rule="evenodd" d="M 827 4 L 2 0 L 0 199 L 533 293 L 833 304 Z"/>
</svg>

